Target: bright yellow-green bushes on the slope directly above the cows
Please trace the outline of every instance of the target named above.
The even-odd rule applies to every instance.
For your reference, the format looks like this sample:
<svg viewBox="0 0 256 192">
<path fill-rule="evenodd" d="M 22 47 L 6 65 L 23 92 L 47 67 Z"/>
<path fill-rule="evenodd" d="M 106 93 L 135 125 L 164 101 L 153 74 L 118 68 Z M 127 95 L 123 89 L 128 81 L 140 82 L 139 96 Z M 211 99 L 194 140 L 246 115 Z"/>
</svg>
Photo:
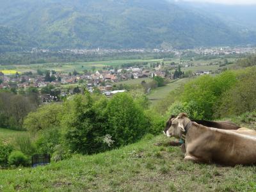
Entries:
<svg viewBox="0 0 256 192">
<path fill-rule="evenodd" d="M 223 72 L 219 76 L 201 76 L 185 84 L 182 102 L 193 107 L 193 116 L 212 119 L 214 109 L 223 93 L 234 87 L 237 82 L 234 72 Z"/>
</svg>

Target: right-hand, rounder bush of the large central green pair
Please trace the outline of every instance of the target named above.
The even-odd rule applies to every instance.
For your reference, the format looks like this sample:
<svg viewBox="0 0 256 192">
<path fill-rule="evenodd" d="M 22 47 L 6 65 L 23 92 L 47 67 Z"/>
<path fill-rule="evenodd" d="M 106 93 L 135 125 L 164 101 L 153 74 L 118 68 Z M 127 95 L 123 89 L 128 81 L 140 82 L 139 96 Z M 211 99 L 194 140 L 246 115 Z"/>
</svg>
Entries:
<svg viewBox="0 0 256 192">
<path fill-rule="evenodd" d="M 133 143 L 148 131 L 147 118 L 129 93 L 115 95 L 106 107 L 108 119 L 107 134 L 115 141 L 116 147 Z"/>
</svg>

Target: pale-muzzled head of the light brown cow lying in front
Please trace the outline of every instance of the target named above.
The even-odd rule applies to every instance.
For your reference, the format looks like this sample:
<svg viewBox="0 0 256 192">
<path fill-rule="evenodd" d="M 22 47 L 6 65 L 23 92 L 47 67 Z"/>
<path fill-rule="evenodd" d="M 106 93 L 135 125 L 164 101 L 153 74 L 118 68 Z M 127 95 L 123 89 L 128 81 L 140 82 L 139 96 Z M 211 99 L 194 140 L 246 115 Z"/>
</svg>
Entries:
<svg viewBox="0 0 256 192">
<path fill-rule="evenodd" d="M 185 127 L 191 122 L 186 113 L 180 113 L 176 118 L 172 119 L 172 125 L 166 131 L 166 136 L 180 138 L 182 132 L 185 132 Z"/>
</svg>

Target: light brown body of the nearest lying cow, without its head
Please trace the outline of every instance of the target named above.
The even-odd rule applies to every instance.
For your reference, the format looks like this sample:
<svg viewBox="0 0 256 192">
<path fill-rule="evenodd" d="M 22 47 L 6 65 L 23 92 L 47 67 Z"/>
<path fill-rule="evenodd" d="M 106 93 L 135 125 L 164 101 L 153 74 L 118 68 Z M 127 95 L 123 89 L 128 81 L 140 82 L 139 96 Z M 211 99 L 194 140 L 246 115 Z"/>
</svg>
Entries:
<svg viewBox="0 0 256 192">
<path fill-rule="evenodd" d="M 226 165 L 256 163 L 256 136 L 195 124 L 186 137 L 186 156 Z M 185 157 L 186 159 L 186 157 Z"/>
</svg>

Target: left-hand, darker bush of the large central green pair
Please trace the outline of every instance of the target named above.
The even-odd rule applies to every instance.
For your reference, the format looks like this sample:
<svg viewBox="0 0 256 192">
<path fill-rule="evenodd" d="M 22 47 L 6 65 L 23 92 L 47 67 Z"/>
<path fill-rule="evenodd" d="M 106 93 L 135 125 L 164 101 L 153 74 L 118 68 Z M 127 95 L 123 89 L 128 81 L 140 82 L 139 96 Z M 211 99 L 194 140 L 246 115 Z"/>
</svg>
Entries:
<svg viewBox="0 0 256 192">
<path fill-rule="evenodd" d="M 107 100 L 95 102 L 90 95 L 75 95 L 65 102 L 62 126 L 63 143 L 71 152 L 81 154 L 93 154 L 106 150 L 103 137 L 106 135 L 108 121 L 99 110 L 93 108 L 93 104 L 106 105 Z"/>
</svg>

